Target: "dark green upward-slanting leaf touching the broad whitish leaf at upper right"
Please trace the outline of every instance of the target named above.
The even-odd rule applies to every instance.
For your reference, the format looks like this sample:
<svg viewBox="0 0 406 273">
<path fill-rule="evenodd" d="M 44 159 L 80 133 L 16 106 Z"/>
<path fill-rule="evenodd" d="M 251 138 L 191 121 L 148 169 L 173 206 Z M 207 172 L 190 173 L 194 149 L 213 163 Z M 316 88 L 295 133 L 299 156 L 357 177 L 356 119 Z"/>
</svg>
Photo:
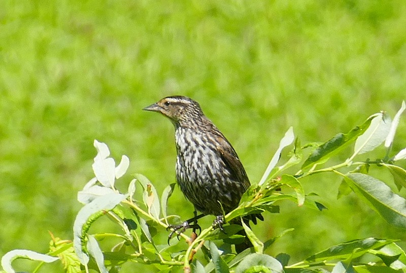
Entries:
<svg viewBox="0 0 406 273">
<path fill-rule="evenodd" d="M 303 163 L 302 169 L 309 169 L 315 164 L 321 164 L 326 162 L 331 156 L 339 153 L 348 144 L 355 141 L 355 139 L 363 134 L 371 123 L 372 117 L 369 117 L 361 126 L 355 127 L 347 134 L 336 134 L 330 140 L 321 144 L 309 158 Z"/>
</svg>

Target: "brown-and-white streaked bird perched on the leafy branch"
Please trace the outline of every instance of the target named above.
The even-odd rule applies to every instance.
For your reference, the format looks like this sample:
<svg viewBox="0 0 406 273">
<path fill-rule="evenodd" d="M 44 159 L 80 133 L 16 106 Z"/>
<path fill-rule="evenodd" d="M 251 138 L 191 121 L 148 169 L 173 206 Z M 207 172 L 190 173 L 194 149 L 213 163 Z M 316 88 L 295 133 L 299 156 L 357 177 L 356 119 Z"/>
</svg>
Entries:
<svg viewBox="0 0 406 273">
<path fill-rule="evenodd" d="M 174 125 L 176 180 L 195 208 L 194 218 L 182 225 L 171 226 L 173 232 L 180 229 L 184 232 L 189 227 L 194 231 L 199 228 L 197 219 L 206 215 L 215 216 L 213 227 L 224 231 L 224 213 L 236 208 L 250 187 L 244 166 L 230 142 L 204 114 L 199 103 L 188 97 L 166 97 L 143 110 L 161 113 Z M 197 211 L 200 211 L 200 216 L 197 216 Z M 263 220 L 262 215 L 253 214 L 244 221 L 252 220 L 256 224 L 257 218 Z M 242 225 L 240 221 L 236 223 Z M 243 248 L 250 246 L 248 241 Z"/>
</svg>

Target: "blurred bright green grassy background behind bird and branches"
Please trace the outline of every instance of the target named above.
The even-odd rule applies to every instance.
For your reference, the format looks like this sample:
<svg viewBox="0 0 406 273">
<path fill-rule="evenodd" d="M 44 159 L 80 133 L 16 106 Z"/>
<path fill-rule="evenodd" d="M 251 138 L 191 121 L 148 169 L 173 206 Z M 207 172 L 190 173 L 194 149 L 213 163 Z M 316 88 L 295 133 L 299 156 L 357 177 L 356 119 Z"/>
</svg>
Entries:
<svg viewBox="0 0 406 273">
<path fill-rule="evenodd" d="M 302 144 L 325 141 L 380 110 L 393 117 L 406 98 L 403 1 L 0 5 L 0 256 L 47 252 L 48 230 L 72 239 L 77 192 L 93 177 L 93 139 L 107 143 L 116 161 L 127 155 L 128 173 L 145 174 L 158 192 L 173 183 L 173 126 L 141 111 L 165 96 L 197 100 L 251 181 L 290 126 Z M 406 146 L 405 120 L 393 155 Z M 394 188 L 385 170 L 373 173 Z M 295 228 L 267 253 L 297 261 L 355 238 L 406 239 L 354 194 L 336 200 L 339 184 L 334 175 L 303 181 L 328 210 L 282 204 L 279 215 L 265 214 L 254 228 L 263 240 Z M 170 213 L 192 215 L 179 189 L 169 205 Z"/>
</svg>

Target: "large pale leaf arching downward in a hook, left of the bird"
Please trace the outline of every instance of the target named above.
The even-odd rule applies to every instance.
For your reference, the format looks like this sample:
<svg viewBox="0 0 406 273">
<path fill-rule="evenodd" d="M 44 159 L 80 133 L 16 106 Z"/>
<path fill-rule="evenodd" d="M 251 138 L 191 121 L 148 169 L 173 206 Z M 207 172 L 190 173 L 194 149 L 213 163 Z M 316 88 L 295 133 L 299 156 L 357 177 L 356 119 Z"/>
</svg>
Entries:
<svg viewBox="0 0 406 273">
<path fill-rule="evenodd" d="M 85 205 L 79 210 L 78 215 L 76 216 L 73 232 L 74 232 L 74 248 L 75 253 L 79 257 L 80 262 L 84 265 L 89 262 L 89 257 L 82 250 L 82 230 L 85 226 L 88 225 L 89 218 L 98 213 L 99 211 L 108 211 L 113 209 L 118 205 L 122 200 L 125 199 L 125 196 L 118 193 L 111 193 L 104 196 L 100 196 L 94 199 L 89 204 Z M 88 228 L 88 227 L 87 227 Z"/>
</svg>

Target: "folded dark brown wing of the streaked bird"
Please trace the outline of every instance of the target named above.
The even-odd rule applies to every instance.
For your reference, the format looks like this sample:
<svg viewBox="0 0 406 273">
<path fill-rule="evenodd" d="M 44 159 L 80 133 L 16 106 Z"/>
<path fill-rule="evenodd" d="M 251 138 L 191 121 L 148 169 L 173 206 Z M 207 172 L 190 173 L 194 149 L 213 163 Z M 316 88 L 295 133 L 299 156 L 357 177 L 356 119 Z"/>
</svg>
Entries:
<svg viewBox="0 0 406 273">
<path fill-rule="evenodd" d="M 250 187 L 250 181 L 237 153 L 224 136 L 217 136 L 216 138 L 218 143 L 217 150 L 220 153 L 221 159 L 230 173 L 235 176 L 235 180 L 243 185 L 244 190 L 247 190 Z"/>
</svg>

